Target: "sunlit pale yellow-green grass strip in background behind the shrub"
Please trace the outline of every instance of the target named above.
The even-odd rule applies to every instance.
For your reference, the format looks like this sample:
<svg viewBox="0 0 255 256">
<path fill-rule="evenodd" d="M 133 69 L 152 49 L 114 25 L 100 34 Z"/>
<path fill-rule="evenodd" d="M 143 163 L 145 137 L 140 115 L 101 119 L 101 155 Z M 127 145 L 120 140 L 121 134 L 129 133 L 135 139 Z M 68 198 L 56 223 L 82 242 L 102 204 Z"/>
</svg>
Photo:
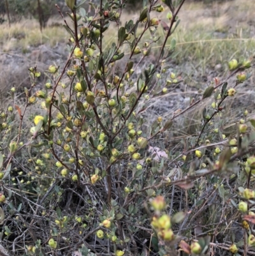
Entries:
<svg viewBox="0 0 255 256">
<path fill-rule="evenodd" d="M 163 13 L 152 13 L 152 17 L 166 20 L 167 8 Z M 138 13 L 123 13 L 121 24 L 126 20 L 137 19 Z M 229 1 L 219 4 L 205 5 L 201 3 L 187 3 L 180 11 L 181 20 L 176 33 L 177 39 L 177 62 L 183 60 L 198 61 L 205 64 L 217 64 L 235 54 L 250 56 L 255 52 L 254 42 L 254 10 L 252 1 L 244 0 Z M 0 26 L 0 43 L 4 51 L 22 48 L 24 51 L 29 47 L 48 43 L 54 47 L 57 43 L 67 42 L 69 34 L 63 27 L 54 27 L 52 24 L 64 24 L 58 17 L 48 22 L 48 27 L 40 33 L 39 24 L 36 20 L 22 20 L 17 24 L 2 24 Z M 163 38 L 163 30 L 159 29 L 159 35 Z M 113 24 L 108 34 L 105 35 L 105 46 L 110 46 L 117 38 L 116 25 Z M 159 45 L 155 48 L 160 47 Z M 127 52 L 128 53 L 128 52 Z M 206 56 L 206 59 L 205 59 Z"/>
</svg>

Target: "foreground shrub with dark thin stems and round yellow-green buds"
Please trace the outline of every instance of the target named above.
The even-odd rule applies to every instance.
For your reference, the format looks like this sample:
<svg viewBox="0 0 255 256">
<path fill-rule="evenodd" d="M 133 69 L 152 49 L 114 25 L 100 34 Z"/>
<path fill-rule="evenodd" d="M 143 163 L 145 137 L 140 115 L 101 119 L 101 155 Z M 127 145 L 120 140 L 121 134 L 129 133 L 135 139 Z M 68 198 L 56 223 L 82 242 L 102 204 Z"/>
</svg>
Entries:
<svg viewBox="0 0 255 256">
<path fill-rule="evenodd" d="M 138 20 L 121 27 L 122 1 L 91 3 L 92 17 L 66 0 L 72 22 L 65 25 L 71 38 L 64 67 L 49 66 L 42 89 L 41 73 L 29 68 L 25 106 L 13 103 L 0 114 L 1 236 L 15 255 L 249 254 L 255 121 L 240 110 L 233 132 L 222 132 L 226 102 L 249 79 L 251 62 L 231 60 L 226 80 L 215 78 L 198 91 L 200 98 L 191 98 L 169 119 L 151 121 L 146 115 L 150 101 L 181 82 L 169 65 L 184 1 L 166 0 L 164 7 L 144 1 Z M 154 53 L 156 61 L 147 64 L 158 40 L 154 11 L 164 8 L 169 11 L 163 45 Z M 106 47 L 110 24 L 118 36 Z M 14 102 L 15 88 L 10 94 Z M 170 144 L 182 116 L 210 98 L 200 130 L 181 146 Z M 35 104 L 42 113 L 33 112 Z M 24 123 L 25 115 L 34 124 Z M 226 232 L 232 216 L 241 220 L 244 238 Z M 223 245 L 216 243 L 220 239 Z"/>
</svg>

